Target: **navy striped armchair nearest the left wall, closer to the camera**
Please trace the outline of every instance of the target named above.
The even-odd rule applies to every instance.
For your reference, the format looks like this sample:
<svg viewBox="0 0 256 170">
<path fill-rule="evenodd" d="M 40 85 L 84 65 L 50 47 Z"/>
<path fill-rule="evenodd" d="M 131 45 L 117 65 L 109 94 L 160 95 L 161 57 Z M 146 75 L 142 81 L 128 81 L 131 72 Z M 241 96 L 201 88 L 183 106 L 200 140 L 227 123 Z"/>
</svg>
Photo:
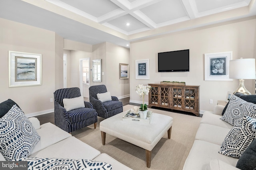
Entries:
<svg viewBox="0 0 256 170">
<path fill-rule="evenodd" d="M 80 97 L 80 89 L 74 88 L 62 88 L 54 92 L 54 121 L 55 125 L 71 133 L 78 129 L 82 129 L 88 125 L 94 124 L 96 129 L 98 117 L 97 112 L 93 108 L 90 102 L 84 101 L 85 107 L 72 109 L 67 111 L 64 108 L 64 98 L 77 98 Z"/>
</svg>

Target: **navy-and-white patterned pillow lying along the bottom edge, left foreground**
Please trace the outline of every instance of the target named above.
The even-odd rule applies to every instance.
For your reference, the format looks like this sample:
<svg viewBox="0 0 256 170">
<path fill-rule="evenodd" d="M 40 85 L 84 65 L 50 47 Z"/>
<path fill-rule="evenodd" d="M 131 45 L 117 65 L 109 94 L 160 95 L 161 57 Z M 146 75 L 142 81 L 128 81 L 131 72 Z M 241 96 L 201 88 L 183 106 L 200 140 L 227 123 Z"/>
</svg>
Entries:
<svg viewBox="0 0 256 170">
<path fill-rule="evenodd" d="M 16 161 L 28 161 L 28 170 L 112 170 L 110 164 L 85 159 L 22 158 Z"/>
</svg>

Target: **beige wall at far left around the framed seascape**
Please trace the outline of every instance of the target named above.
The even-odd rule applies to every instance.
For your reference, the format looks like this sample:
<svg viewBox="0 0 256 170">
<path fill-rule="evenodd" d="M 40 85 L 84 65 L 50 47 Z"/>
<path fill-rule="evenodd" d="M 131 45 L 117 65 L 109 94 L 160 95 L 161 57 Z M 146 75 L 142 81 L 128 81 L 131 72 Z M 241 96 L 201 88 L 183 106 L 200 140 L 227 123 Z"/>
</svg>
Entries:
<svg viewBox="0 0 256 170">
<path fill-rule="evenodd" d="M 10 98 L 25 114 L 53 110 L 55 38 L 52 31 L 0 18 L 0 102 Z M 8 51 L 42 54 L 41 86 L 8 87 Z"/>
</svg>

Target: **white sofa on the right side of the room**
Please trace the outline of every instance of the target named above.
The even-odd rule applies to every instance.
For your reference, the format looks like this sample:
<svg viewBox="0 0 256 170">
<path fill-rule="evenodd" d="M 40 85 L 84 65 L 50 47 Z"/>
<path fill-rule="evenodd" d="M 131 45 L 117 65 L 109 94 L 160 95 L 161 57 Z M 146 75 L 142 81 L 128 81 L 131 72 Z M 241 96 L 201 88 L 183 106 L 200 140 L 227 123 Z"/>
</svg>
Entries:
<svg viewBox="0 0 256 170">
<path fill-rule="evenodd" d="M 238 158 L 218 153 L 232 125 L 220 120 L 225 106 L 216 105 L 205 111 L 183 170 L 239 170 Z"/>
</svg>

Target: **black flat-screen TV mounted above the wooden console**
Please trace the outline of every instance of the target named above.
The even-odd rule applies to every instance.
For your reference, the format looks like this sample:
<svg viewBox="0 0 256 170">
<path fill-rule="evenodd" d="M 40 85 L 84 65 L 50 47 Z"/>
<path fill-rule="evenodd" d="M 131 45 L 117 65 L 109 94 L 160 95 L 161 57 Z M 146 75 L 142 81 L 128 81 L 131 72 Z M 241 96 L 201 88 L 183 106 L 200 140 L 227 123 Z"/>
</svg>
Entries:
<svg viewBox="0 0 256 170">
<path fill-rule="evenodd" d="M 189 71 L 189 49 L 158 53 L 158 72 Z"/>
</svg>

